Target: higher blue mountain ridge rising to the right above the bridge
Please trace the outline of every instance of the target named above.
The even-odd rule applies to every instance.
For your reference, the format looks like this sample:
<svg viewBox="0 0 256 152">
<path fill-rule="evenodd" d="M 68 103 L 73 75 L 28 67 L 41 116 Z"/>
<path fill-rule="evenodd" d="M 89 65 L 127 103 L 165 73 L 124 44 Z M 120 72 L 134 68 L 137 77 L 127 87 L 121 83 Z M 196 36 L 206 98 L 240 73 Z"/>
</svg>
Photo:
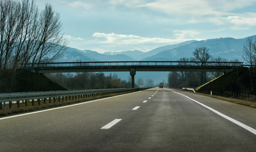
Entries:
<svg viewBox="0 0 256 152">
<path fill-rule="evenodd" d="M 253 36 L 255 37 L 255 36 Z M 243 61 L 243 44 L 245 39 L 233 39 L 233 38 L 219 38 L 208 39 L 204 41 L 194 41 L 191 44 L 185 44 L 173 49 L 167 49 L 160 53 L 144 58 L 144 61 L 176 61 L 180 58 L 190 58 L 193 56 L 193 52 L 197 47 L 206 46 L 209 49 L 209 53 L 213 58 L 225 58 L 229 61 L 238 59 Z"/>
</svg>

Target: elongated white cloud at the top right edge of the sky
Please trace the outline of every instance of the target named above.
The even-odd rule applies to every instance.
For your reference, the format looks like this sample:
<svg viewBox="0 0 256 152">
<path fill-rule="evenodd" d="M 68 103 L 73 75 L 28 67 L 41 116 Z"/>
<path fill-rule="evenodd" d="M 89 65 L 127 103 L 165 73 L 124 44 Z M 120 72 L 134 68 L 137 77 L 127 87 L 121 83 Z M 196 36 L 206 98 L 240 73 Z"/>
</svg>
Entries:
<svg viewBox="0 0 256 152">
<path fill-rule="evenodd" d="M 169 15 L 223 15 L 234 9 L 252 6 L 256 0 L 156 0 L 145 3 L 141 6 L 153 9 L 154 11 L 162 11 Z"/>
</svg>

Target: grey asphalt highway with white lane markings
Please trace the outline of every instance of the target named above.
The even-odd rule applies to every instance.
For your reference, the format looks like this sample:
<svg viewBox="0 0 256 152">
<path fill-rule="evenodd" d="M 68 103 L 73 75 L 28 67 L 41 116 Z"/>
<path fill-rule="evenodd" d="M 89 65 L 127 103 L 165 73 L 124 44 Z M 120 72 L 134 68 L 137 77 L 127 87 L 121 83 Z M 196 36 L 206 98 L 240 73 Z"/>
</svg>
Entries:
<svg viewBox="0 0 256 152">
<path fill-rule="evenodd" d="M 256 109 L 152 88 L 0 118 L 0 151 L 255 151 Z"/>
</svg>

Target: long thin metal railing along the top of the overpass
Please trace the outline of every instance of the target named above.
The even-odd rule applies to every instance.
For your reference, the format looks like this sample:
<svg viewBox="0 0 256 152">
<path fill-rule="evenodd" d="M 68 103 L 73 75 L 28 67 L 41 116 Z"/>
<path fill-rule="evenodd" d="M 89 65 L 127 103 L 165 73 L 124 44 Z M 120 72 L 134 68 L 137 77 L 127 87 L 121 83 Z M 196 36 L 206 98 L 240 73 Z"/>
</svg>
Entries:
<svg viewBox="0 0 256 152">
<path fill-rule="evenodd" d="M 243 66 L 243 62 L 200 62 L 200 61 L 95 61 L 95 62 L 55 62 L 25 63 L 23 67 L 67 67 L 67 66 Z"/>
</svg>

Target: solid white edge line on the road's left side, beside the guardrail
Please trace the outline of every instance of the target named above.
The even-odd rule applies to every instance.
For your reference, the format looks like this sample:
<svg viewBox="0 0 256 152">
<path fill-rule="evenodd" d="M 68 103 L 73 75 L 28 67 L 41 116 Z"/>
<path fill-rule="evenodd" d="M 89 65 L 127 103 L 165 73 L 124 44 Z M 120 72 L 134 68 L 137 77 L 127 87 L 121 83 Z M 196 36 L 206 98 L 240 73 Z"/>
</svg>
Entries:
<svg viewBox="0 0 256 152">
<path fill-rule="evenodd" d="M 141 92 L 141 91 L 131 92 L 129 94 L 134 94 L 134 93 L 137 93 L 137 92 Z M 129 95 L 129 94 L 120 94 L 118 96 L 111 96 L 111 97 L 108 97 L 108 98 L 101 98 L 101 99 L 96 99 L 96 100 L 92 100 L 92 101 L 85 101 L 83 103 L 76 103 L 76 104 L 68 105 L 68 106 L 60 106 L 60 107 L 57 107 L 57 108 L 50 108 L 48 110 L 40 110 L 40 111 L 34 111 L 34 112 L 29 112 L 29 113 L 23 113 L 23 114 L 20 114 L 20 115 L 13 115 L 13 116 L 8 116 L 8 117 L 3 117 L 3 118 L 0 118 L 0 120 L 4 120 L 4 119 L 8 119 L 8 118 L 21 117 L 21 116 L 25 116 L 25 115 L 32 115 L 34 113 L 41 113 L 41 112 L 45 112 L 45 111 L 58 110 L 58 109 L 62 109 L 62 108 L 68 108 L 68 107 L 71 107 L 71 106 L 83 105 L 83 104 L 87 104 L 87 103 L 100 101 L 100 100 L 103 100 L 103 99 L 116 98 L 116 97 L 119 97 L 119 96 L 125 96 L 125 95 Z"/>
</svg>

